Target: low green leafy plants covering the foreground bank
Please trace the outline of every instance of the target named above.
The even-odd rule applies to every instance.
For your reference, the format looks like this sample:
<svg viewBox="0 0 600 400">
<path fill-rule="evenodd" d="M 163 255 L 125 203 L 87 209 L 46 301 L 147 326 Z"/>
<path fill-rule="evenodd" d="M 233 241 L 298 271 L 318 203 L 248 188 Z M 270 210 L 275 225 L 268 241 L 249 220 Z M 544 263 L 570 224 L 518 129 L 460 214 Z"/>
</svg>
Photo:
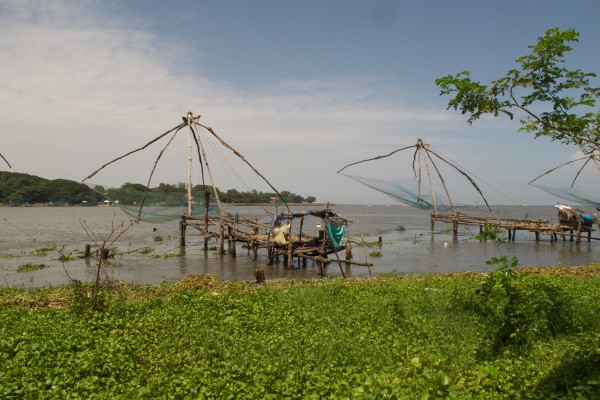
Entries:
<svg viewBox="0 0 600 400">
<path fill-rule="evenodd" d="M 600 396 L 600 264 L 0 291 L 0 396 Z"/>
</svg>

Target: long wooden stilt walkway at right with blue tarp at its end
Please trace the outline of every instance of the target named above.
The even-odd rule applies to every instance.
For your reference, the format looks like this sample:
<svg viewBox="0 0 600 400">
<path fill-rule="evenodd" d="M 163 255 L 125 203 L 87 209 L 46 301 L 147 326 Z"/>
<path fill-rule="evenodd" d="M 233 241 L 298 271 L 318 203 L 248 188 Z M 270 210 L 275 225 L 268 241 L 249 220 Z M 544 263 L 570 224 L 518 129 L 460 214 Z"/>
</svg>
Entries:
<svg viewBox="0 0 600 400">
<path fill-rule="evenodd" d="M 570 241 L 575 240 L 576 243 L 580 243 L 582 235 L 587 236 L 588 242 L 591 240 L 600 240 L 600 237 L 592 236 L 592 232 L 595 231 L 593 223 L 600 224 L 600 217 L 596 214 L 585 213 L 585 215 L 589 215 L 592 218 L 592 221 L 590 221 L 589 218 L 585 219 L 582 217 L 584 213 L 582 210 L 571 208 L 559 209 L 558 224 L 551 224 L 549 221 L 543 219 L 479 217 L 460 212 L 449 214 L 433 212 L 431 213 L 430 221 L 432 230 L 436 221 L 452 224 L 452 233 L 455 237 L 458 234 L 459 225 L 478 226 L 479 232 L 483 232 L 485 226 L 491 224 L 496 228 L 506 230 L 508 232 L 508 240 L 513 242 L 515 241 L 517 231 L 533 232 L 536 241 L 540 240 L 540 235 L 550 236 L 550 241 L 557 241 L 558 237 L 561 236 L 563 241 L 566 241 L 566 238 L 569 237 Z"/>
</svg>

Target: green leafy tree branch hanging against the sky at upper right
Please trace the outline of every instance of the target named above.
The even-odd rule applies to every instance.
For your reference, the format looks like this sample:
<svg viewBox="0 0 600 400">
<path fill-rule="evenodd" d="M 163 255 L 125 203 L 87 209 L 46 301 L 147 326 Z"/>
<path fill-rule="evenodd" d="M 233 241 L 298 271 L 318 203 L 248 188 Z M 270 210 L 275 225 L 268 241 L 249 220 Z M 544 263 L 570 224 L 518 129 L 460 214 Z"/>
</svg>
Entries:
<svg viewBox="0 0 600 400">
<path fill-rule="evenodd" d="M 469 114 L 469 123 L 482 115 L 522 115 L 520 131 L 578 145 L 586 154 L 600 149 L 600 88 L 590 86 L 595 73 L 564 66 L 571 43 L 579 42 L 573 29 L 549 29 L 529 46 L 531 54 L 517 58 L 519 69 L 485 85 L 460 72 L 435 80 L 440 95 L 454 96 L 448 109 Z"/>
</svg>

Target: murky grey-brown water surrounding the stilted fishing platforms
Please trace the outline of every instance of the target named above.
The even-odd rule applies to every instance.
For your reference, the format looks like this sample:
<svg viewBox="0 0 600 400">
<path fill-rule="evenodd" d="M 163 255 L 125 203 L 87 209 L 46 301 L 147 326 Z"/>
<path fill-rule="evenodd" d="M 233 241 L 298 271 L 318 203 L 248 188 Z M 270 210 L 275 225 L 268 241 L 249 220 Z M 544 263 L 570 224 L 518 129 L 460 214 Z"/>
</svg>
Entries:
<svg viewBox="0 0 600 400">
<path fill-rule="evenodd" d="M 337 205 L 332 209 L 350 219 L 350 234 L 367 242 L 381 237 L 383 246 L 366 249 L 366 253 L 379 251 L 381 257 L 368 257 L 374 265 L 373 275 L 406 273 L 447 273 L 459 271 L 487 271 L 485 261 L 494 256 L 506 255 L 519 258 L 522 266 L 577 265 L 598 260 L 600 241 L 550 242 L 542 236 L 539 242 L 530 232 L 519 231 L 514 243 L 497 246 L 481 243 L 473 237 L 477 227 L 461 226 L 457 238 L 453 238 L 450 225 L 437 223 L 432 232 L 429 212 L 399 205 Z M 295 208 L 305 210 L 305 208 Z M 259 218 L 268 222 L 262 207 L 235 207 L 232 212 L 240 216 Z M 273 210 L 271 210 L 273 211 Z M 465 211 L 470 215 L 482 210 Z M 552 206 L 499 207 L 494 216 L 507 218 L 542 218 L 556 221 L 556 209 Z M 307 218 L 304 231 L 316 231 Z M 61 262 L 59 250 L 79 255 L 86 243 L 101 241 L 111 231 L 119 232 L 128 225 L 128 217 L 116 207 L 1 207 L 0 208 L 0 286 L 39 287 L 61 285 L 70 279 L 93 280 L 95 261 L 77 259 Z M 405 230 L 397 230 L 399 225 Z M 87 232 L 84 227 L 87 227 Z M 106 268 L 109 276 L 126 281 L 161 283 L 178 280 L 188 274 L 210 273 L 223 280 L 254 280 L 254 269 L 265 268 L 265 277 L 271 279 L 318 278 L 319 267 L 311 261 L 306 267 L 287 268 L 281 264 L 266 265 L 266 251 L 259 251 L 258 260 L 237 247 L 237 257 L 219 256 L 214 251 L 204 254 L 202 238 L 198 231 L 188 228 L 184 257 L 164 257 L 179 253 L 178 221 L 163 224 L 140 223 L 133 225 L 116 242 L 118 255 Z M 297 232 L 297 226 L 294 232 Z M 91 237 L 90 237 L 91 236 Z M 157 241 L 158 237 L 162 241 Z M 92 240 L 95 237 L 94 240 Z M 151 247 L 152 253 L 140 254 L 136 250 Z M 39 252 L 49 248 L 47 254 Z M 363 262 L 365 256 L 359 246 L 353 247 L 354 260 Z M 153 258 L 151 255 L 161 255 Z M 334 256 L 332 255 L 332 258 Z M 343 258 L 343 253 L 341 254 Z M 17 272 L 20 265 L 44 264 L 45 268 L 31 272 Z M 344 266 L 346 276 L 368 276 L 362 266 Z M 326 268 L 326 275 L 339 276 L 337 263 Z"/>
</svg>

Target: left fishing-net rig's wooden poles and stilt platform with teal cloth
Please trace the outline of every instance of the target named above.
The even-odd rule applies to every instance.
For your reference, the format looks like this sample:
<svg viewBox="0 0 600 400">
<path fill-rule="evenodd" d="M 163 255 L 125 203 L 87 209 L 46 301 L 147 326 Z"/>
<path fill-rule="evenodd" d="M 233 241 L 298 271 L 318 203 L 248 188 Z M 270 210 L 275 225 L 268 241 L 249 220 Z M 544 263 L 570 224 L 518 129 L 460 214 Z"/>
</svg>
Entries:
<svg viewBox="0 0 600 400">
<path fill-rule="evenodd" d="M 291 268 L 294 266 L 294 260 L 296 260 L 297 266 L 305 266 L 307 260 L 313 260 L 319 265 L 322 274 L 324 274 L 324 266 L 332 261 L 338 263 L 340 273 L 344 277 L 345 272 L 342 265 L 371 266 L 367 261 L 357 262 L 353 260 L 349 237 L 349 221 L 345 217 L 331 210 L 329 204 L 322 210 L 292 211 L 281 193 L 238 150 L 225 142 L 211 127 L 203 125 L 200 122 L 199 115 L 193 115 L 191 112 L 183 117 L 183 122 L 178 126 L 153 139 L 145 146 L 104 164 L 84 180 L 93 177 L 109 164 L 143 150 L 163 137 L 171 135 L 167 145 L 162 149 L 154 163 L 154 168 L 150 173 L 143 197 L 138 202 L 139 209 L 136 220 L 143 220 L 144 205 L 148 197 L 150 182 L 156 166 L 175 135 L 181 131 L 187 131 L 188 133 L 187 205 L 181 207 L 178 215 L 181 246 L 186 245 L 186 231 L 190 227 L 202 234 L 204 252 L 209 251 L 209 241 L 216 239 L 218 253 L 221 255 L 229 254 L 235 257 L 237 253 L 236 244 L 241 243 L 249 252 L 252 251 L 253 259 L 258 258 L 258 251 L 262 249 L 267 252 L 268 264 L 276 263 L 280 257 L 283 257 L 285 265 Z M 282 212 L 266 212 L 268 215 L 266 222 L 239 216 L 237 212 L 234 213 L 232 210 L 229 212 L 226 211 L 228 205 L 223 204 L 219 197 L 212 165 L 207 157 L 208 138 L 212 140 L 216 139 L 218 144 L 233 152 L 239 160 L 250 167 L 277 194 L 279 205 L 282 205 L 285 210 Z M 201 202 L 192 193 L 192 161 L 194 152 L 200 164 L 202 188 L 204 188 Z M 205 184 L 205 172 L 208 176 L 209 184 Z M 193 203 L 201 203 L 203 211 L 194 210 L 192 207 Z M 216 205 L 216 210 L 212 203 Z M 304 221 L 309 217 L 317 218 L 319 221 L 317 226 L 320 228 L 317 232 L 311 231 L 305 225 Z M 343 259 L 340 256 L 341 252 L 344 253 Z M 334 259 L 331 258 L 332 255 L 335 257 Z M 264 279 L 264 272 L 262 279 Z M 257 273 L 258 280 L 260 279 Z"/>
</svg>

